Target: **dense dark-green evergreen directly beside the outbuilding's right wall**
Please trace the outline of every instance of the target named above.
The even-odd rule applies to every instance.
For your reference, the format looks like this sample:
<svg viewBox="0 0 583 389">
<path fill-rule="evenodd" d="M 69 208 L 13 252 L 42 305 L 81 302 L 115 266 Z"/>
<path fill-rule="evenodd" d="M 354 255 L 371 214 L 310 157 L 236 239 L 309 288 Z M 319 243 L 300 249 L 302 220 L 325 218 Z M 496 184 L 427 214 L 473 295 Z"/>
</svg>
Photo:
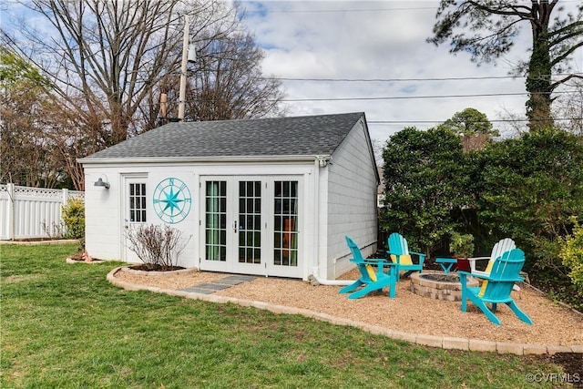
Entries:
<svg viewBox="0 0 583 389">
<path fill-rule="evenodd" d="M 455 229 L 452 210 L 467 201 L 460 139 L 448 128 L 404 128 L 389 139 L 383 158 L 382 228 L 429 254 Z"/>
</svg>

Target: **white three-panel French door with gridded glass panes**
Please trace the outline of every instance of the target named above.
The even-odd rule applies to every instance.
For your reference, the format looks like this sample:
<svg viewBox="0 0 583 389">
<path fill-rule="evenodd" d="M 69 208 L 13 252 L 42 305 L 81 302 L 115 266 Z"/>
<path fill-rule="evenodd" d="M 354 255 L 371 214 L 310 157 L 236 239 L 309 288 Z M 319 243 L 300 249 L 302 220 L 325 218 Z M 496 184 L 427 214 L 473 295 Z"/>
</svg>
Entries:
<svg viewBox="0 0 583 389">
<path fill-rule="evenodd" d="M 202 177 L 200 268 L 301 277 L 299 179 Z"/>
</svg>

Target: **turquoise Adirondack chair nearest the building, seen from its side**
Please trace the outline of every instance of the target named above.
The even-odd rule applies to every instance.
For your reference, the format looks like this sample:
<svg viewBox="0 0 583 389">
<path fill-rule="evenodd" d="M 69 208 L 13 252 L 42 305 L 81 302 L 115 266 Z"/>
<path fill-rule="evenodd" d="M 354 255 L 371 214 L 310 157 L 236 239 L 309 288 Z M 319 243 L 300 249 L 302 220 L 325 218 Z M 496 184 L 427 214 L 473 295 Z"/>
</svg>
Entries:
<svg viewBox="0 0 583 389">
<path fill-rule="evenodd" d="M 353 258 L 351 258 L 350 261 L 356 263 L 361 276 L 358 280 L 356 280 L 356 282 L 343 287 L 340 292 L 353 292 L 363 286 L 363 288 L 358 289 L 358 291 L 353 292 L 348 296 L 349 299 L 353 300 L 358 299 L 359 297 L 363 297 L 365 294 L 370 292 L 382 290 L 385 286 L 388 286 L 389 297 L 394 299 L 396 294 L 396 276 L 393 263 L 384 258 L 363 258 L 363 253 L 359 249 L 358 245 L 354 243 L 354 241 L 349 237 L 345 238 L 346 243 L 348 244 L 348 247 L 353 254 Z M 384 272 L 385 269 L 388 269 L 388 272 Z"/>
</svg>

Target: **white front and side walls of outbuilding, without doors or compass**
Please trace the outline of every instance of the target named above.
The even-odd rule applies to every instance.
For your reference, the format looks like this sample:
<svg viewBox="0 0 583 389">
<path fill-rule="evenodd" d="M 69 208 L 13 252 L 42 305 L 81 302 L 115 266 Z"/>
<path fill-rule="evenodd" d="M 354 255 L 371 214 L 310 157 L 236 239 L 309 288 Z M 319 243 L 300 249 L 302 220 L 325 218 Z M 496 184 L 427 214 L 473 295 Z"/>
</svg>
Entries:
<svg viewBox="0 0 583 389">
<path fill-rule="evenodd" d="M 146 183 L 148 223 L 160 222 L 153 210 L 151 196 L 160 180 L 175 177 L 186 182 L 192 195 L 192 208 L 187 219 L 172 227 L 192 235 L 179 265 L 199 266 L 200 249 L 200 179 L 204 176 L 295 176 L 302 177 L 300 207 L 302 217 L 302 269 L 298 278 L 307 279 L 318 267 L 322 278 L 333 280 L 350 270 L 349 251 L 344 240 L 348 235 L 369 255 L 376 250 L 377 176 L 367 129 L 359 122 L 337 148 L 332 160 L 320 167 L 313 161 L 280 162 L 162 162 L 85 164 L 87 251 L 104 260 L 123 260 L 126 177 L 140 177 Z M 94 187 L 99 177 L 111 188 Z M 268 232 L 269 233 L 269 232 Z M 127 260 L 131 260 L 128 256 Z"/>
</svg>

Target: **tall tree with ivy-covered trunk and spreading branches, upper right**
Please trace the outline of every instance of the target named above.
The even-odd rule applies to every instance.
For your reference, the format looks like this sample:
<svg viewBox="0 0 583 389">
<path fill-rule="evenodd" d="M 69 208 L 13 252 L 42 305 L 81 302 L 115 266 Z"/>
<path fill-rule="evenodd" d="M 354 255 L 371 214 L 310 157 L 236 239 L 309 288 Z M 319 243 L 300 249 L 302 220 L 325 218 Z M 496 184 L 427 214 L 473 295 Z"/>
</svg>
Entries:
<svg viewBox="0 0 583 389">
<path fill-rule="evenodd" d="M 551 94 L 571 74 L 569 59 L 583 46 L 583 5 L 577 15 L 564 13 L 558 0 L 441 0 L 434 36 L 428 42 L 449 42 L 450 52 L 467 52 L 478 64 L 505 55 L 514 46 L 521 26 L 530 26 L 532 46 L 528 61 L 518 64 L 516 74 L 527 75 L 527 118 L 531 130 L 552 124 Z"/>
</svg>

